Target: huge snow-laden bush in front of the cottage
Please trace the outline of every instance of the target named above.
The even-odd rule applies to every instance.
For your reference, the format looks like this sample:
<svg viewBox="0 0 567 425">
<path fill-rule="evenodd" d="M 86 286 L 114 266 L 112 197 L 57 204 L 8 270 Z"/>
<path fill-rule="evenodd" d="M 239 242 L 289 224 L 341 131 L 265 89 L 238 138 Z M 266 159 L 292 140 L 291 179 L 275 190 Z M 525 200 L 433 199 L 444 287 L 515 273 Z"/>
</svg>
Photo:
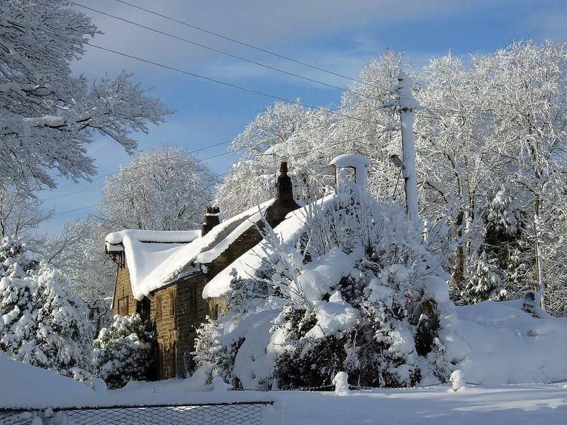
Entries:
<svg viewBox="0 0 567 425">
<path fill-rule="evenodd" d="M 199 331 L 198 363 L 243 388 L 329 386 L 341 371 L 359 387 L 447 380 L 448 276 L 403 207 L 355 187 L 289 220 L 301 232 L 266 226 L 262 266 L 233 274 L 228 314 Z"/>
</svg>

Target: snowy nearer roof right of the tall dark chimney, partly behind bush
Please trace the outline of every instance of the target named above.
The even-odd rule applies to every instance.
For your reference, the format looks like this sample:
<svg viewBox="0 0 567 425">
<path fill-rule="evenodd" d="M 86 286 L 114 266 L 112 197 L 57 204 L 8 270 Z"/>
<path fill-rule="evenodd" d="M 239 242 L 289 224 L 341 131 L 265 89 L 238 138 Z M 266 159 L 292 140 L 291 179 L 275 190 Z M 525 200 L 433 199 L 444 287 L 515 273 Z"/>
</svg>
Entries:
<svg viewBox="0 0 567 425">
<path fill-rule="evenodd" d="M 332 194 L 316 202 L 319 208 L 325 210 L 325 208 L 331 205 L 333 200 L 335 200 L 335 197 L 336 195 Z M 288 213 L 286 220 L 283 220 L 283 222 L 274 227 L 274 232 L 276 232 L 282 244 L 294 244 L 296 239 L 301 236 L 305 227 L 306 217 L 308 216 L 308 208 L 310 208 L 310 205 Z M 222 297 L 228 293 L 230 290 L 230 280 L 232 280 L 230 273 L 233 268 L 236 269 L 238 276 L 242 278 L 253 276 L 254 272 L 262 265 L 262 260 L 265 259 L 266 255 L 269 255 L 270 252 L 269 244 L 265 239 L 262 240 L 262 242 L 246 251 L 245 254 L 242 254 L 242 256 L 211 279 L 203 289 L 203 298 Z"/>
</svg>

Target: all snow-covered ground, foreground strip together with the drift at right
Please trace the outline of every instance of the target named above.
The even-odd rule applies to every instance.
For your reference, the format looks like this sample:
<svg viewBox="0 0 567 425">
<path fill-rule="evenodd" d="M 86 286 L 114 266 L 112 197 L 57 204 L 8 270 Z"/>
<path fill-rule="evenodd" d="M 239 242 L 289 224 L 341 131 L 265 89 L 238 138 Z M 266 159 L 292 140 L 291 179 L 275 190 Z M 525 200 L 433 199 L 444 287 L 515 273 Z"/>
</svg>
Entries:
<svg viewBox="0 0 567 425">
<path fill-rule="evenodd" d="M 274 402 L 274 424 L 567 424 L 567 319 L 537 319 L 521 302 L 482 302 L 445 317 L 448 352 L 466 384 L 335 392 L 214 391 L 189 380 L 87 385 L 0 355 L 0 409 Z M 452 344 L 452 345 L 451 345 Z M 456 360 L 456 358 L 454 358 Z M 556 383 L 551 380 L 560 380 Z M 498 383 L 497 383 L 498 382 Z M 536 383 L 530 383 L 536 382 Z"/>
</svg>

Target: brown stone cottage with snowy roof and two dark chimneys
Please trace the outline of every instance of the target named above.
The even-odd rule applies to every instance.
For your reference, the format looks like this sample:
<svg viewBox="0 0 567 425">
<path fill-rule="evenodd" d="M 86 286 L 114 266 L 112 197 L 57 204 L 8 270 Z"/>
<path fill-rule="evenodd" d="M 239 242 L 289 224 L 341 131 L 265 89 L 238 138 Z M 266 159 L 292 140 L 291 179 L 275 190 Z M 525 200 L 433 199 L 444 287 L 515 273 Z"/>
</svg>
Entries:
<svg viewBox="0 0 567 425">
<path fill-rule="evenodd" d="M 196 328 L 207 315 L 216 318 L 226 310 L 222 296 L 203 300 L 206 283 L 262 239 L 262 216 L 275 227 L 296 208 L 282 162 L 275 198 L 229 220 L 220 222 L 218 208 L 208 208 L 201 230 L 108 234 L 106 254 L 118 264 L 113 313 L 137 312 L 155 326 L 156 379 L 193 369 Z"/>
</svg>

